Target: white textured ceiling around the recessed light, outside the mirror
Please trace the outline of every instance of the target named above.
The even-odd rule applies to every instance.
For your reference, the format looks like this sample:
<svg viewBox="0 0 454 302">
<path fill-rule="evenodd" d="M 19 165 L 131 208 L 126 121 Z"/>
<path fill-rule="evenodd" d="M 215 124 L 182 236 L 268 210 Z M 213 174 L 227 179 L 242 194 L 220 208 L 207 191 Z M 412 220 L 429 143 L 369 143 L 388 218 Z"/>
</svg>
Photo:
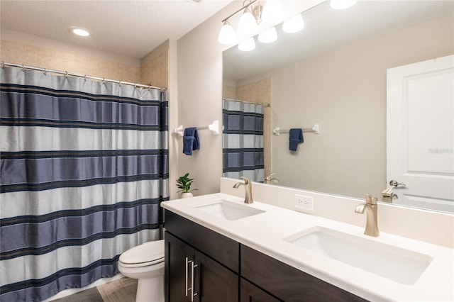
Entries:
<svg viewBox="0 0 454 302">
<path fill-rule="evenodd" d="M 140 59 L 165 40 L 181 38 L 231 1 L 1 0 L 0 26 Z M 91 35 L 73 35 L 70 26 L 87 28 Z"/>
</svg>

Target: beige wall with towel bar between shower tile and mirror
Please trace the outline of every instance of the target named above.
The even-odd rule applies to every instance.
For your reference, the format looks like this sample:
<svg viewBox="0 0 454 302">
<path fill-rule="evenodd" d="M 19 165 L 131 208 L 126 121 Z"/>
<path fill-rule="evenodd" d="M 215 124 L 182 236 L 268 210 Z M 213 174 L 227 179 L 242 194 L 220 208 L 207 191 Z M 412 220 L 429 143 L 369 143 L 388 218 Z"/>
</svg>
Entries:
<svg viewBox="0 0 454 302">
<path fill-rule="evenodd" d="M 215 15 L 216 16 L 216 15 Z M 217 43 L 221 16 L 209 18 L 177 41 L 178 125 L 198 127 L 214 120 L 222 123 L 222 50 Z M 171 135 L 178 154 L 179 175 L 195 179 L 194 195 L 219 191 L 222 174 L 222 135 L 199 131 L 200 150 L 182 153 L 182 138 Z M 170 185 L 175 181 L 170 180 Z M 176 196 L 174 196 L 176 197 Z"/>
</svg>

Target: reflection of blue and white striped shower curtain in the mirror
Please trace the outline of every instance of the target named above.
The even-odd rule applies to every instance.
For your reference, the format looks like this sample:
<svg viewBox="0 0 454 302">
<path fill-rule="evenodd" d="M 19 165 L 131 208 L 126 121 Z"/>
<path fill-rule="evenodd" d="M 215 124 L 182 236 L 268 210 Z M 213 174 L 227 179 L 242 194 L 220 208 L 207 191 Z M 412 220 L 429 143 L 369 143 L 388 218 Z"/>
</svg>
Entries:
<svg viewBox="0 0 454 302">
<path fill-rule="evenodd" d="M 263 181 L 263 106 L 223 100 L 223 177 Z"/>
</svg>

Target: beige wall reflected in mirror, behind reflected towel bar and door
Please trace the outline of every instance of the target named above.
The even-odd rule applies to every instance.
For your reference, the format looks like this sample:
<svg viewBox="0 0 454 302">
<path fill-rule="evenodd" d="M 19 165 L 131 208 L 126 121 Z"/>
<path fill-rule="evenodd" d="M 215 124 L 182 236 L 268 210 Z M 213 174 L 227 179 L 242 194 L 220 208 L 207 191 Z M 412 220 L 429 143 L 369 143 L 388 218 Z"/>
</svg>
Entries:
<svg viewBox="0 0 454 302">
<path fill-rule="evenodd" d="M 386 69 L 453 54 L 453 16 L 382 35 L 277 69 L 272 127 L 308 128 L 291 154 L 272 137 L 272 167 L 284 186 L 361 197 L 386 187 Z M 283 102 L 282 100 L 286 100 Z"/>
</svg>

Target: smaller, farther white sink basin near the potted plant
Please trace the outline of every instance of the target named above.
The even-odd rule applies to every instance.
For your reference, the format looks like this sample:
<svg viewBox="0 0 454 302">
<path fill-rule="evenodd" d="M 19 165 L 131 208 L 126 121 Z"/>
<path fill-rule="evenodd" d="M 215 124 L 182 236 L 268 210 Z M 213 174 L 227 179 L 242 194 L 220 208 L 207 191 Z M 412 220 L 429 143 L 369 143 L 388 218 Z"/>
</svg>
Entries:
<svg viewBox="0 0 454 302">
<path fill-rule="evenodd" d="M 238 220 L 241 218 L 265 213 L 265 211 L 258 208 L 251 208 L 250 206 L 243 206 L 242 204 L 234 203 L 226 200 L 216 200 L 203 205 L 194 205 L 201 211 L 210 213 L 211 215 L 224 218 L 226 220 Z"/>
</svg>

